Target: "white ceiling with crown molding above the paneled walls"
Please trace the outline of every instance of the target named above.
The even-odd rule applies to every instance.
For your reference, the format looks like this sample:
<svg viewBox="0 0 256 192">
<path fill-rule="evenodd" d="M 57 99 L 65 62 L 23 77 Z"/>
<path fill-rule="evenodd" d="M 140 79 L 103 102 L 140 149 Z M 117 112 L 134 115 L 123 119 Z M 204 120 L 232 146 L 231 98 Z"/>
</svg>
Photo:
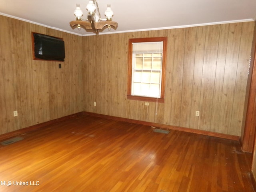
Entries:
<svg viewBox="0 0 256 192">
<path fill-rule="evenodd" d="M 111 4 L 116 30 L 100 34 L 180 28 L 208 24 L 253 21 L 256 0 L 97 0 L 104 17 Z M 87 14 L 88 0 L 0 0 L 0 15 L 32 22 L 81 36 L 94 35 L 84 29 L 72 29 L 74 10 L 80 4 Z"/>
</svg>

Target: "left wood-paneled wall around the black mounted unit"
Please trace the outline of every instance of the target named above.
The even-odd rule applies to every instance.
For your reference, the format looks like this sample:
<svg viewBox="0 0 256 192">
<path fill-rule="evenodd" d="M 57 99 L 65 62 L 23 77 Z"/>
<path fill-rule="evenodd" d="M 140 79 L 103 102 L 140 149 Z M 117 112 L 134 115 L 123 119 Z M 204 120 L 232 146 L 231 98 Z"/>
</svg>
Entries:
<svg viewBox="0 0 256 192">
<path fill-rule="evenodd" d="M 0 134 L 83 111 L 82 37 L 4 16 L 0 23 Z M 31 32 L 63 38 L 65 62 L 32 60 Z"/>
</svg>

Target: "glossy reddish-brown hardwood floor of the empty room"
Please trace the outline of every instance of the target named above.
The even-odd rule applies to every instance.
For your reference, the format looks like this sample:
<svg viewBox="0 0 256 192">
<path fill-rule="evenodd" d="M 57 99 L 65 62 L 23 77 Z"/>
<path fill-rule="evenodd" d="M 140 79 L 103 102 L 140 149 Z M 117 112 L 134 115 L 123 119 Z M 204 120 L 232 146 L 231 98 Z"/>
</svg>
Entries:
<svg viewBox="0 0 256 192">
<path fill-rule="evenodd" d="M 254 191 L 234 140 L 86 115 L 20 136 L 0 145 L 1 192 Z"/>
</svg>

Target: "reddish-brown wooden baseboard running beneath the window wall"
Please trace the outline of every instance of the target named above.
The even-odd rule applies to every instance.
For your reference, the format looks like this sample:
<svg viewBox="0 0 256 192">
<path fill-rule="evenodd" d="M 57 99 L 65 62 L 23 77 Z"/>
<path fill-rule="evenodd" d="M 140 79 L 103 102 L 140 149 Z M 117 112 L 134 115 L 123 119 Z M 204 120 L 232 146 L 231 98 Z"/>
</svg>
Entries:
<svg viewBox="0 0 256 192">
<path fill-rule="evenodd" d="M 183 131 L 183 132 L 190 132 L 190 133 L 196 133 L 196 134 L 202 134 L 202 135 L 207 135 L 207 136 L 213 136 L 213 137 L 218 137 L 218 138 L 240 141 L 240 137 L 234 136 L 234 135 L 228 135 L 228 134 L 222 134 L 222 133 L 216 133 L 216 132 L 210 132 L 210 131 L 204 131 L 204 130 L 197 130 L 197 129 L 192 129 L 192 128 L 184 128 L 184 127 L 178 127 L 178 126 L 164 125 L 164 124 L 158 124 L 158 123 L 152 123 L 152 122 L 145 122 L 145 121 L 133 120 L 133 119 L 122 118 L 122 117 L 96 114 L 96 113 L 92 113 L 92 112 L 83 112 L 83 114 L 90 115 L 90 116 L 97 116 L 100 118 L 108 118 L 108 119 L 112 119 L 112 120 L 142 124 L 142 125 L 147 125 L 147 126 L 154 126 L 154 127 L 158 127 L 158 128 L 178 130 L 178 131 Z"/>
</svg>

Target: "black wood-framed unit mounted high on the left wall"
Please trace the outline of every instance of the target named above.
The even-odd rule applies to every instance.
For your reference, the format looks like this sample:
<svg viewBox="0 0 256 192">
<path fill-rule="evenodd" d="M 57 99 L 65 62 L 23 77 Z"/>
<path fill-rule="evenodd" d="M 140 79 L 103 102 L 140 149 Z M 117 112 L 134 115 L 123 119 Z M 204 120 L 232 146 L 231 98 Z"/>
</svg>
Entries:
<svg viewBox="0 0 256 192">
<path fill-rule="evenodd" d="M 64 40 L 53 36 L 32 32 L 35 60 L 64 61 Z"/>
</svg>

